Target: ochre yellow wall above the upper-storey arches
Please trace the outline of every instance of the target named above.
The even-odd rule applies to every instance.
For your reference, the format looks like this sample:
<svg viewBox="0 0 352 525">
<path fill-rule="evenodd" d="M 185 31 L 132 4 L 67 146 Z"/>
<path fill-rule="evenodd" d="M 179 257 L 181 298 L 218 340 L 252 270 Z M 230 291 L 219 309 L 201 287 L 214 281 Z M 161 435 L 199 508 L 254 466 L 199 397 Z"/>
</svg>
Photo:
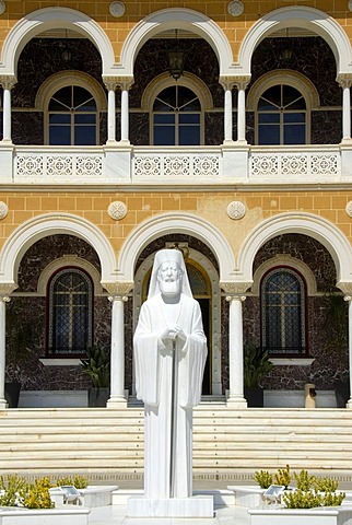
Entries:
<svg viewBox="0 0 352 525">
<path fill-rule="evenodd" d="M 214 22 L 216 22 L 228 38 L 234 54 L 234 61 L 236 61 L 240 43 L 245 34 L 257 20 L 270 11 L 295 4 L 316 8 L 333 16 L 345 30 L 352 44 L 352 13 L 348 10 L 348 0 L 292 0 L 290 3 L 288 3 L 286 0 L 243 1 L 245 4 L 245 11 L 243 15 L 234 18 L 227 13 L 228 0 L 212 0 L 208 2 L 198 0 L 189 2 L 180 0 L 171 0 L 167 2 L 157 0 L 126 0 L 124 2 L 126 5 L 125 15 L 116 19 L 110 16 L 108 11 L 109 4 L 112 3 L 110 1 L 99 0 L 93 2 L 86 0 L 84 2 L 73 2 L 69 0 L 61 0 L 56 2 L 50 0 L 8 0 L 5 2 L 5 12 L 0 16 L 0 46 L 2 47 L 3 40 L 11 27 L 13 27 L 13 25 L 26 13 L 31 13 L 37 9 L 64 7 L 75 9 L 87 14 L 101 25 L 112 42 L 116 56 L 116 62 L 119 62 L 122 44 L 131 28 L 138 22 L 152 12 L 161 9 L 177 7 L 193 9 L 195 11 L 207 14 Z"/>
</svg>

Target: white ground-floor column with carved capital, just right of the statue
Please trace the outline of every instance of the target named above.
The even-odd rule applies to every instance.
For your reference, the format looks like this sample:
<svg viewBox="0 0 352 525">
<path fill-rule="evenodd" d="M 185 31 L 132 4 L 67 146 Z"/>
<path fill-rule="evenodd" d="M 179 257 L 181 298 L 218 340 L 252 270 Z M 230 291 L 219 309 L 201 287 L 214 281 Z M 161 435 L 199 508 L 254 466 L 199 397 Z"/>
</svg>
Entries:
<svg viewBox="0 0 352 525">
<path fill-rule="evenodd" d="M 226 293 L 230 303 L 228 315 L 228 369 L 230 369 L 230 394 L 227 406 L 231 408 L 245 408 L 247 401 L 244 398 L 244 350 L 243 350 L 243 316 L 242 303 L 246 296 L 244 292 L 250 287 L 247 282 L 221 282 L 221 288 Z"/>
</svg>

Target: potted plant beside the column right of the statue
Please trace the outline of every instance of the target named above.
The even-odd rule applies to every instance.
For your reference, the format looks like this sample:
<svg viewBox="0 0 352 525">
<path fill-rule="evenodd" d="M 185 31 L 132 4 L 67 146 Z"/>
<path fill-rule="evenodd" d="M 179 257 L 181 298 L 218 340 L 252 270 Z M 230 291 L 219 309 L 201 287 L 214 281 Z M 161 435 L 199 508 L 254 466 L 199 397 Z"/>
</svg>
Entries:
<svg viewBox="0 0 352 525">
<path fill-rule="evenodd" d="M 263 390 L 261 381 L 271 370 L 273 364 L 267 350 L 254 343 L 244 347 L 244 386 L 245 398 L 248 407 L 262 407 Z"/>
</svg>

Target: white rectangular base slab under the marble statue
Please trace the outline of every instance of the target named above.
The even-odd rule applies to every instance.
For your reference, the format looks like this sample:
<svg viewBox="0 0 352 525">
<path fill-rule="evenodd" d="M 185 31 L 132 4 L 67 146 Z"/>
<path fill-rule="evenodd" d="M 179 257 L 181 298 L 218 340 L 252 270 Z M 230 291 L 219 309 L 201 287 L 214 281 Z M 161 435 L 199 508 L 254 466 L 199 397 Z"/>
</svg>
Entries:
<svg viewBox="0 0 352 525">
<path fill-rule="evenodd" d="M 191 498 L 144 498 L 133 495 L 127 504 L 128 517 L 214 517 L 212 495 Z"/>
</svg>

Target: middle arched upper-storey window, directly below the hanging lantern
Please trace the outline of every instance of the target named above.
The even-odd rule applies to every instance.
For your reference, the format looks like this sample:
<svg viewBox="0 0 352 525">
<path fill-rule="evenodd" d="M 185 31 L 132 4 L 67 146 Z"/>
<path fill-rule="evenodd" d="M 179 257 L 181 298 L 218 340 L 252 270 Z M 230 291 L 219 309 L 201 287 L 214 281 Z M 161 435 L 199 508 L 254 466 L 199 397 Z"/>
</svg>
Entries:
<svg viewBox="0 0 352 525">
<path fill-rule="evenodd" d="M 185 85 L 161 91 L 153 104 L 154 145 L 199 145 L 201 105 L 196 93 Z"/>
</svg>

